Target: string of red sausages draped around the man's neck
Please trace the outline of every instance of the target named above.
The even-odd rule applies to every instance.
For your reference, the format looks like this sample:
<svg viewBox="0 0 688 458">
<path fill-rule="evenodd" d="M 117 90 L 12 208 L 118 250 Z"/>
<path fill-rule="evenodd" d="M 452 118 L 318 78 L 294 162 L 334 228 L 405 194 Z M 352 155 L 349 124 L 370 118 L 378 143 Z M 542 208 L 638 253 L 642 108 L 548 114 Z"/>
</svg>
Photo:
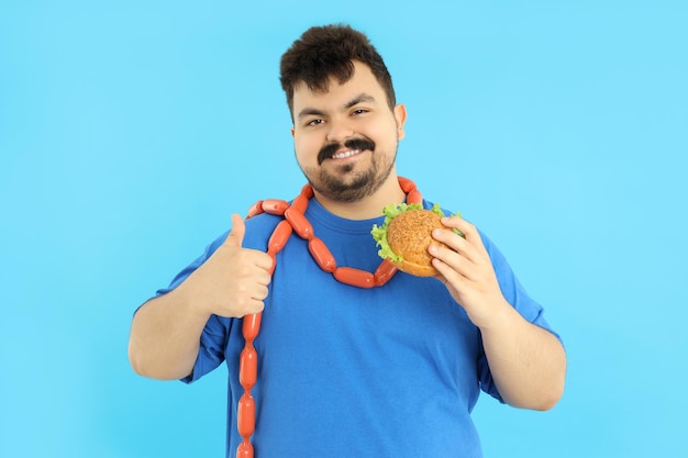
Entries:
<svg viewBox="0 0 688 458">
<path fill-rule="evenodd" d="M 408 178 L 398 177 L 398 179 L 401 190 L 407 194 L 407 203 L 422 203 L 423 198 L 415 189 L 415 183 Z M 287 245 L 291 234 L 296 232 L 299 237 L 308 241 L 308 250 L 318 266 L 325 272 L 332 273 L 337 281 L 358 288 L 381 287 L 387 283 L 397 272 L 397 268 L 387 259 L 380 262 L 374 273 L 353 267 L 337 267 L 334 256 L 332 256 L 325 243 L 315 236 L 313 226 L 304 216 L 306 209 L 312 197 L 313 188 L 307 183 L 301 188 L 301 193 L 291 203 L 276 199 L 260 200 L 248 210 L 247 219 L 260 213 L 285 217 L 277 224 L 267 242 L 267 254 L 273 258 L 270 276 L 275 271 L 277 254 Z M 243 440 L 236 448 L 236 458 L 253 458 L 254 456 L 251 436 L 255 432 L 256 426 L 256 405 L 251 390 L 255 386 L 258 376 L 258 354 L 253 342 L 260 331 L 262 317 L 262 312 L 246 315 L 242 323 L 242 334 L 246 344 L 240 356 L 238 381 L 244 389 L 244 393 L 238 400 L 236 425 Z"/>
</svg>

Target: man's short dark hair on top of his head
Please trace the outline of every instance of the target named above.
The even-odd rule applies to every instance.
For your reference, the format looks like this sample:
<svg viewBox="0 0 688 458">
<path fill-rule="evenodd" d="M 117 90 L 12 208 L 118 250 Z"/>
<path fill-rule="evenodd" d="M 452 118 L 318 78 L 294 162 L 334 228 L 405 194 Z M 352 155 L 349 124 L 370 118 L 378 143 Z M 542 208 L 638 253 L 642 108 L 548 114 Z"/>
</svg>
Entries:
<svg viewBox="0 0 688 458">
<path fill-rule="evenodd" d="M 373 75 L 387 93 L 390 109 L 397 104 L 395 88 L 387 66 L 368 37 L 345 24 L 315 26 L 281 56 L 279 80 L 287 96 L 289 111 L 293 113 L 293 89 L 303 81 L 312 91 L 328 91 L 330 78 L 340 83 L 354 75 L 353 60 L 370 67 Z"/>
</svg>

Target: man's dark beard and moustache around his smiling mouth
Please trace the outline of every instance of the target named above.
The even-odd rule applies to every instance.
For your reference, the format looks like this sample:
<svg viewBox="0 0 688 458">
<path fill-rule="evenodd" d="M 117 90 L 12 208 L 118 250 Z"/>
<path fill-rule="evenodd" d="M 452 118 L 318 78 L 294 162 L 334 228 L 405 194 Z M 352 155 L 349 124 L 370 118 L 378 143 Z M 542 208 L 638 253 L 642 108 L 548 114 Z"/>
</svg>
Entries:
<svg viewBox="0 0 688 458">
<path fill-rule="evenodd" d="M 344 142 L 344 146 L 349 149 L 368 150 L 371 157 L 367 168 L 356 171 L 357 164 L 335 165 L 334 171 L 323 168 L 322 163 L 341 147 L 339 144 L 322 148 L 317 168 L 300 167 L 317 192 L 339 202 L 357 202 L 373 196 L 387 180 L 393 169 L 397 150 L 395 149 L 393 154 L 377 152 L 375 143 L 368 138 L 352 138 Z"/>
</svg>

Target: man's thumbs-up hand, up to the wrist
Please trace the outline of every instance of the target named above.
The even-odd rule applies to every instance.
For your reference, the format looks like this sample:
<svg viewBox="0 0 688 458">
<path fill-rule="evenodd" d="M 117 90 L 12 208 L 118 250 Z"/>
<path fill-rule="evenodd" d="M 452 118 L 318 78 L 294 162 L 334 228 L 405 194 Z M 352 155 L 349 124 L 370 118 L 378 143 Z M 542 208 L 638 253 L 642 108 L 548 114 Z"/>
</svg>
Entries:
<svg viewBox="0 0 688 458">
<path fill-rule="evenodd" d="M 232 231 L 224 243 L 185 283 L 189 302 L 207 314 L 241 317 L 263 311 L 270 283 L 273 258 L 244 248 L 246 226 L 232 215 Z"/>
</svg>

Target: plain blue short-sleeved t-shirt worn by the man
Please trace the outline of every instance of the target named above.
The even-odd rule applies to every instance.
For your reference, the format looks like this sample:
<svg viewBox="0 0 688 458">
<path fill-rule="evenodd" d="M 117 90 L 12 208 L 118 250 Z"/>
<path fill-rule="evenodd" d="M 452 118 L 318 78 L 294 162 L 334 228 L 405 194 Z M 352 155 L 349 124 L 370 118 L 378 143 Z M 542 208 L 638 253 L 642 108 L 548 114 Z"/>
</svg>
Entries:
<svg viewBox="0 0 688 458">
<path fill-rule="evenodd" d="M 379 266 L 370 230 L 382 217 L 345 220 L 315 199 L 306 215 L 337 266 L 370 272 Z M 279 221 L 265 213 L 247 220 L 243 246 L 266 250 Z M 184 281 L 226 235 L 158 294 Z M 528 321 L 548 328 L 542 308 L 525 293 L 495 245 L 481 237 L 506 299 Z M 185 379 L 195 381 L 226 364 L 228 457 L 242 439 L 236 429 L 243 394 L 241 327 L 241 319 L 213 315 L 201 336 L 193 373 Z M 433 278 L 397 272 L 380 288 L 343 284 L 320 269 L 307 242 L 295 233 L 277 255 L 254 344 L 256 458 L 481 457 L 470 412 L 480 390 L 501 398 L 479 331 Z"/>
</svg>

